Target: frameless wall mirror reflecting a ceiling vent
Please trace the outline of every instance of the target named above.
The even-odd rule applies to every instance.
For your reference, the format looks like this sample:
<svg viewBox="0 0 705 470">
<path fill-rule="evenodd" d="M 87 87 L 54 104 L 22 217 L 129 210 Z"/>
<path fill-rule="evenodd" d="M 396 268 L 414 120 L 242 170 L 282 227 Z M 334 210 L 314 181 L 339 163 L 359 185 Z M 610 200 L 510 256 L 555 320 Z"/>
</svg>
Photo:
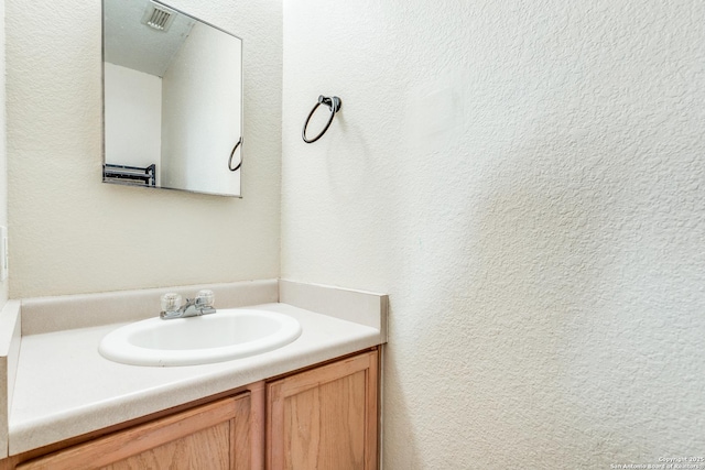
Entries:
<svg viewBox="0 0 705 470">
<path fill-rule="evenodd" d="M 104 0 L 102 181 L 240 195 L 242 41 L 152 0 Z"/>
</svg>

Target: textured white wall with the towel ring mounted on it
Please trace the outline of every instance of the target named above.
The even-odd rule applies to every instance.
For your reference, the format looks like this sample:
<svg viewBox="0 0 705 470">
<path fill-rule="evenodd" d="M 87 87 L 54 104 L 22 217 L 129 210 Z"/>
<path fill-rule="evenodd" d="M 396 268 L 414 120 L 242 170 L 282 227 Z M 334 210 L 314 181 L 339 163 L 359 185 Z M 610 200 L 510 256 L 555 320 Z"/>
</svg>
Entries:
<svg viewBox="0 0 705 470">
<path fill-rule="evenodd" d="M 284 2 L 282 276 L 390 293 L 387 469 L 705 452 L 703 18 Z"/>
</svg>

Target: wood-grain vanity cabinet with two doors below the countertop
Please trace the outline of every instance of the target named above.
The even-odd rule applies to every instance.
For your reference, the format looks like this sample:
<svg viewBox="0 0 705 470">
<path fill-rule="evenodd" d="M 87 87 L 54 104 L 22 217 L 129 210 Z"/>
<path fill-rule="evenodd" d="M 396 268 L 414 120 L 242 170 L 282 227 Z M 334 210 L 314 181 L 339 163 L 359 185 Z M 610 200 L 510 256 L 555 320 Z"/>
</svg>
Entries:
<svg viewBox="0 0 705 470">
<path fill-rule="evenodd" d="M 378 369 L 369 350 L 9 457 L 0 470 L 376 470 Z"/>
</svg>

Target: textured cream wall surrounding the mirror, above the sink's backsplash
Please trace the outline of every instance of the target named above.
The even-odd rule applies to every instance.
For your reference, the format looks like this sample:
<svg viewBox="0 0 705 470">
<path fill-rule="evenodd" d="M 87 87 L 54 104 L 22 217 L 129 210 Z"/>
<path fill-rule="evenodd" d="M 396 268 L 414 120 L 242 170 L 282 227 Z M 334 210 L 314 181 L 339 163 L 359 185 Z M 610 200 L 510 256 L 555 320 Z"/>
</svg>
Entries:
<svg viewBox="0 0 705 470">
<path fill-rule="evenodd" d="M 171 3 L 245 41 L 243 199 L 100 183 L 100 2 L 8 0 L 11 297 L 279 274 L 282 4 Z"/>
</svg>

